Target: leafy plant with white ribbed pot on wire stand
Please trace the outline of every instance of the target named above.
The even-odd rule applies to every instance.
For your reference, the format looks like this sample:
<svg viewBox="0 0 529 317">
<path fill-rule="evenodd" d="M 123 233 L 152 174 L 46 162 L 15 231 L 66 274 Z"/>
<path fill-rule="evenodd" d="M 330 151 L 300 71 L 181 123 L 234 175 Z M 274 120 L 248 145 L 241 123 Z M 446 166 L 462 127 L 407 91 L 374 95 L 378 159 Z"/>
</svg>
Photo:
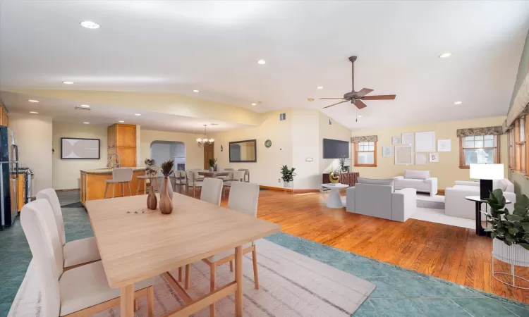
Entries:
<svg viewBox="0 0 529 317">
<path fill-rule="evenodd" d="M 485 229 L 492 237 L 492 276 L 506 285 L 529 290 L 528 280 L 514 272 L 515 266 L 529 267 L 529 198 L 523 194 L 514 203 L 512 213 L 505 208 L 506 199 L 501 189 L 494 189 L 485 200 L 490 206 L 487 223 L 492 225 Z M 511 272 L 494 272 L 494 259 L 511 264 Z M 507 279 L 497 278 L 497 275 L 510 275 L 509 282 L 506 282 Z M 515 278 L 520 280 L 518 285 Z"/>
</svg>

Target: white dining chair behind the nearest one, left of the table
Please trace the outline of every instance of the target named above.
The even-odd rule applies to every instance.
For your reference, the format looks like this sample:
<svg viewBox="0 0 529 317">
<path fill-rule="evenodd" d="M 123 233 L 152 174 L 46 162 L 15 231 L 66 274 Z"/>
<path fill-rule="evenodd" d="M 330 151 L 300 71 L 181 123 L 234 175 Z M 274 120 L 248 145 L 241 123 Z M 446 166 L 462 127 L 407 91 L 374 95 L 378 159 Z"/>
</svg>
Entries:
<svg viewBox="0 0 529 317">
<path fill-rule="evenodd" d="M 61 203 L 59 202 L 59 197 L 57 197 L 53 188 L 42 189 L 37 193 L 37 199 L 46 199 L 54 213 L 56 228 L 59 233 L 61 246 L 63 247 L 63 265 L 66 270 L 75 268 L 75 266 L 101 260 L 95 237 L 87 237 L 85 239 L 66 242 Z"/>
</svg>

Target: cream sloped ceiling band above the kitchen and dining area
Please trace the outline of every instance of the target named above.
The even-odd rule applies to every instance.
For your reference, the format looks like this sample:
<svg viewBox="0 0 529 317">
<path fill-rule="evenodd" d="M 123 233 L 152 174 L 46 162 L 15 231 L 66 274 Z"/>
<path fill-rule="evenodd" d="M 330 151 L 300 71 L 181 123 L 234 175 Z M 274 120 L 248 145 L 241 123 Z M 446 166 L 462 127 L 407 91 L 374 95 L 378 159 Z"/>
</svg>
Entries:
<svg viewBox="0 0 529 317">
<path fill-rule="evenodd" d="M 216 120 L 204 120 L 200 118 L 190 118 L 184 116 L 174 116 L 167 113 L 157 113 L 153 111 L 133 111 L 128 108 L 116 106 L 90 104 L 90 111 L 75 110 L 75 106 L 80 104 L 42 96 L 31 96 L 28 94 L 16 94 L 13 92 L 0 92 L 0 98 L 5 104 L 10 105 L 9 110 L 18 113 L 38 112 L 38 115 L 49 116 L 54 121 L 74 124 L 104 125 L 108 127 L 119 120 L 130 125 L 141 125 L 145 130 L 173 131 L 173 132 L 195 132 L 204 133 L 204 125 L 207 125 L 207 132 L 223 132 L 235 128 L 245 128 L 246 125 L 229 123 Z M 38 103 L 28 102 L 28 100 L 38 100 Z M 141 116 L 135 116 L 139 113 Z M 211 125 L 214 123 L 214 125 Z"/>
</svg>

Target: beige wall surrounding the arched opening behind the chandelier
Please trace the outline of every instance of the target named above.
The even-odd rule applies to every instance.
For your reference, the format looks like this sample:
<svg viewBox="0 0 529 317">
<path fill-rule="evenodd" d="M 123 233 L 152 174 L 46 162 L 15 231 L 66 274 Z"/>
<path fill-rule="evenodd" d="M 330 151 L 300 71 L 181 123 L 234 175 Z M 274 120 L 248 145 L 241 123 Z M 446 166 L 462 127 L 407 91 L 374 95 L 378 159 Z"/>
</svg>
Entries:
<svg viewBox="0 0 529 317">
<path fill-rule="evenodd" d="M 145 166 L 143 161 L 150 158 L 151 143 L 153 141 L 178 141 L 186 144 L 186 169 L 204 168 L 204 149 L 200 149 L 196 141 L 199 137 L 202 138 L 204 135 L 142 129 L 140 132 L 140 143 L 136 144 L 137 150 L 140 152 L 138 166 Z M 157 165 L 159 163 L 162 162 L 157 162 Z"/>
</svg>

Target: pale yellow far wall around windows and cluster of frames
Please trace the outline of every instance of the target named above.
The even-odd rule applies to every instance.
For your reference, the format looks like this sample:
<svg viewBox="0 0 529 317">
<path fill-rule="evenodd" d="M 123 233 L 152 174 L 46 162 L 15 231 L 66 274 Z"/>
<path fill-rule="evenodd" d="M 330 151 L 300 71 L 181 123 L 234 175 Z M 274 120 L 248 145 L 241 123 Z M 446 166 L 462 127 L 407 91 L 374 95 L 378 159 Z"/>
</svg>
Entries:
<svg viewBox="0 0 529 317">
<path fill-rule="evenodd" d="M 456 180 L 470 180 L 469 170 L 459 168 L 459 139 L 456 137 L 456 130 L 460 128 L 480 128 L 493 125 L 501 125 L 505 120 L 504 116 L 494 118 L 480 118 L 473 120 L 460 120 L 440 123 L 425 123 L 422 125 L 409 125 L 397 128 L 373 129 L 373 130 L 353 130 L 352 136 L 378 135 L 377 142 L 377 167 L 360 168 L 353 167 L 353 170 L 360 172 L 365 178 L 391 178 L 403 175 L 406 169 L 430 170 L 432 177 L 438 180 L 439 189 L 445 189 L 454 185 Z M 451 151 L 439 152 L 439 163 L 426 165 L 403 166 L 395 165 L 394 157 L 382 157 L 382 147 L 391 146 L 391 136 L 401 135 L 405 132 L 435 131 L 436 139 L 451 139 Z M 500 138 L 500 161 L 505 165 L 505 176 L 507 176 L 507 136 Z M 437 144 L 436 144 L 437 147 Z M 413 147 L 415 149 L 415 146 Z"/>
</svg>

